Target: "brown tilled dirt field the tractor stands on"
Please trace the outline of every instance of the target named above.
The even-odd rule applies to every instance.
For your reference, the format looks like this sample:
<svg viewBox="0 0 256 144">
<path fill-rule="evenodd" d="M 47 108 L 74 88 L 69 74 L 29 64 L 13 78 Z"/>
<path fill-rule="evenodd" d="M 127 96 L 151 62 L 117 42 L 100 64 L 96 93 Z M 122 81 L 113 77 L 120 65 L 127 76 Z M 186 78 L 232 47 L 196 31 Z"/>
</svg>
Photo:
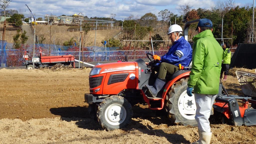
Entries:
<svg viewBox="0 0 256 144">
<path fill-rule="evenodd" d="M 0 69 L 0 143 L 190 143 L 197 127 L 179 126 L 164 115 L 135 105 L 132 123 L 105 131 L 88 114 L 87 69 L 62 71 Z M 228 76 L 230 94 L 239 94 Z M 214 122 L 211 143 L 256 143 L 256 126 Z"/>
</svg>

